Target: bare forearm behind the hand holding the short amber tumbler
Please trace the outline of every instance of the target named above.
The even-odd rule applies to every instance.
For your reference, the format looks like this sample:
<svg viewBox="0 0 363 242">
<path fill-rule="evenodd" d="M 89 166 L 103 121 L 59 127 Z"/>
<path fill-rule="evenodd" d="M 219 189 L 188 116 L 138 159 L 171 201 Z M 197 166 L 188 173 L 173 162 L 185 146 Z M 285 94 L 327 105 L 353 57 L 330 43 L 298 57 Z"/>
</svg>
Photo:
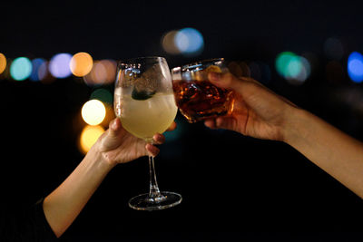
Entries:
<svg viewBox="0 0 363 242">
<path fill-rule="evenodd" d="M 308 111 L 289 113 L 284 140 L 363 198 L 363 143 Z"/>
</svg>

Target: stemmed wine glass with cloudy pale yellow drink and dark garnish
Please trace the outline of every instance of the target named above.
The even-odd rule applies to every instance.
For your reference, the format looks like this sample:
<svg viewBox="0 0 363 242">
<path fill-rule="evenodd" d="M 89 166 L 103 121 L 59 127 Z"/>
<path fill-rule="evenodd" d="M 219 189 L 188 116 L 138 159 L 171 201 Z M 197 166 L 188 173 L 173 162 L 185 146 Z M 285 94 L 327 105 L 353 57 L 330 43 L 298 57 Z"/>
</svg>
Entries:
<svg viewBox="0 0 363 242">
<path fill-rule="evenodd" d="M 164 58 L 140 57 L 118 63 L 114 111 L 126 131 L 149 143 L 155 133 L 170 127 L 178 108 L 172 91 L 172 76 Z M 131 198 L 129 206 L 137 210 L 159 210 L 180 204 L 180 194 L 160 191 L 151 155 L 149 170 L 149 192 Z"/>
</svg>

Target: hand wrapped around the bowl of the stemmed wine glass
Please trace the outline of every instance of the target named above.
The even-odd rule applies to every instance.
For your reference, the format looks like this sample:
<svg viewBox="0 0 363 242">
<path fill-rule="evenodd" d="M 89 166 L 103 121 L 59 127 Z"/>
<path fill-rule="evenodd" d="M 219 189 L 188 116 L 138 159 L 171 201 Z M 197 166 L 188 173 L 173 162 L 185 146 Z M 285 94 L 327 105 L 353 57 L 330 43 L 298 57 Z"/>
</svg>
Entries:
<svg viewBox="0 0 363 242">
<path fill-rule="evenodd" d="M 176 123 L 173 122 L 168 131 L 176 128 Z M 157 133 L 152 139 L 153 144 L 162 144 L 165 137 Z M 151 154 L 156 156 L 159 149 L 153 144 L 136 138 L 131 133 L 123 129 L 120 119 L 116 118 L 110 122 L 109 129 L 97 140 L 95 149 L 98 149 L 104 160 L 109 164 L 116 165 L 135 160 L 142 156 Z"/>
</svg>

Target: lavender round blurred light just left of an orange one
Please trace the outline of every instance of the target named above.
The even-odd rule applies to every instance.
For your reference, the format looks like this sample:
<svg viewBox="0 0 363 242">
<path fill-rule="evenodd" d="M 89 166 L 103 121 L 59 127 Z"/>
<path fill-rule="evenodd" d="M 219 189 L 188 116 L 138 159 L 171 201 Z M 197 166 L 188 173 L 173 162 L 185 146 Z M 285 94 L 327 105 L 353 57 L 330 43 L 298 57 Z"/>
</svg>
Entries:
<svg viewBox="0 0 363 242">
<path fill-rule="evenodd" d="M 70 53 L 57 53 L 49 63 L 49 72 L 56 78 L 66 78 L 72 74 L 69 64 L 72 55 Z"/>
</svg>

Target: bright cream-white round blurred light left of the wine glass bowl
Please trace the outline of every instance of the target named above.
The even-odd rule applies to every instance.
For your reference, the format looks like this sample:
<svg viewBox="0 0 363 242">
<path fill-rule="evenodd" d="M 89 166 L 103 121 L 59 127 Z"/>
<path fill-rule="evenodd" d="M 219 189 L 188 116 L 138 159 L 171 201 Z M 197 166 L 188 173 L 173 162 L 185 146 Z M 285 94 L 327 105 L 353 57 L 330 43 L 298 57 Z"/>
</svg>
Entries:
<svg viewBox="0 0 363 242">
<path fill-rule="evenodd" d="M 100 124 L 106 116 L 106 108 L 103 102 L 93 99 L 85 102 L 82 107 L 83 121 L 90 125 Z"/>
</svg>

